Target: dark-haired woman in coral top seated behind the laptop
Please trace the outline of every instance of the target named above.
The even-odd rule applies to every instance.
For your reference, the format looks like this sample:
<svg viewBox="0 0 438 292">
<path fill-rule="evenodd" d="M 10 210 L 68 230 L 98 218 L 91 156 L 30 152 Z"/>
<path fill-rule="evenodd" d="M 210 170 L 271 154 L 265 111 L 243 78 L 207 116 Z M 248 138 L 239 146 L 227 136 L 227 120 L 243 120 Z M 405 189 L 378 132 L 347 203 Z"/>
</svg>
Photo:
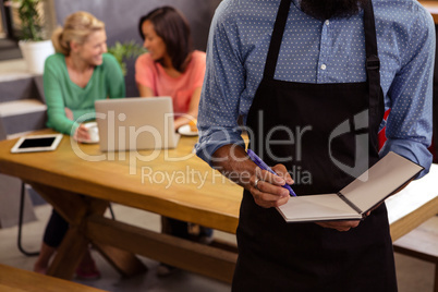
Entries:
<svg viewBox="0 0 438 292">
<path fill-rule="evenodd" d="M 135 63 L 135 80 L 143 97 L 170 96 L 175 113 L 175 130 L 197 118 L 200 88 L 205 74 L 205 52 L 192 49 L 190 26 L 181 12 L 171 7 L 158 8 L 138 22 L 148 50 Z M 190 239 L 187 222 L 162 217 L 162 232 Z M 199 227 L 197 240 L 209 243 L 212 230 Z M 175 270 L 158 267 L 158 276 Z"/>
</svg>

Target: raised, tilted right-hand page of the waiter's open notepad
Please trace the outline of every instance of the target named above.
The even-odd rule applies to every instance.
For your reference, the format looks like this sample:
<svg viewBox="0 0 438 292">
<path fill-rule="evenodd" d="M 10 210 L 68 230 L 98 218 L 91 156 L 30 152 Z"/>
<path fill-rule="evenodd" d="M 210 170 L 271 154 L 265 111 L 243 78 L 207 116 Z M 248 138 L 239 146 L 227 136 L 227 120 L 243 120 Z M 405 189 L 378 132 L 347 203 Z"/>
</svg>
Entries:
<svg viewBox="0 0 438 292">
<path fill-rule="evenodd" d="M 362 174 L 340 193 L 362 211 L 366 211 L 392 194 L 422 169 L 404 157 L 389 153 L 367 173 Z"/>
</svg>

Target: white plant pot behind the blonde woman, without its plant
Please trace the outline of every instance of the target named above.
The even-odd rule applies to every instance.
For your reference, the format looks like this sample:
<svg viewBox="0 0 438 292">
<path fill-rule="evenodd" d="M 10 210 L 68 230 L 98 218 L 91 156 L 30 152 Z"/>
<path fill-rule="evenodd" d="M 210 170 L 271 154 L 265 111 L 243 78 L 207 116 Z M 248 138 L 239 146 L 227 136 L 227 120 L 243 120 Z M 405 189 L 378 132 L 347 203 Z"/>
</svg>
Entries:
<svg viewBox="0 0 438 292">
<path fill-rule="evenodd" d="M 46 58 L 54 53 L 51 40 L 20 40 L 19 46 L 23 59 L 26 62 L 27 71 L 35 74 L 42 74 Z"/>
</svg>

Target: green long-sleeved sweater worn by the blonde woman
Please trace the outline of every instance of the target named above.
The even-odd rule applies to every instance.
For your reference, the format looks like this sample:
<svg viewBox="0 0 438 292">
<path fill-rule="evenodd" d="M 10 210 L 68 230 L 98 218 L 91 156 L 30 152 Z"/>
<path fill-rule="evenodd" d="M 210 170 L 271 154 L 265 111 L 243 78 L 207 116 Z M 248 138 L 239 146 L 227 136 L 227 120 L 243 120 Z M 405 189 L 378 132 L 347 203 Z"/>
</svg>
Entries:
<svg viewBox="0 0 438 292">
<path fill-rule="evenodd" d="M 104 62 L 95 68 L 88 84 L 82 88 L 69 76 L 65 57 L 54 53 L 47 58 L 44 70 L 44 93 L 47 104 L 47 126 L 63 134 L 74 133 L 78 122 L 95 118 L 95 100 L 125 97 L 122 70 L 112 54 L 104 53 Z M 64 108 L 72 110 L 74 120 L 65 117 Z M 84 115 L 86 114 L 86 115 Z M 83 117 L 84 115 L 84 117 Z"/>
</svg>

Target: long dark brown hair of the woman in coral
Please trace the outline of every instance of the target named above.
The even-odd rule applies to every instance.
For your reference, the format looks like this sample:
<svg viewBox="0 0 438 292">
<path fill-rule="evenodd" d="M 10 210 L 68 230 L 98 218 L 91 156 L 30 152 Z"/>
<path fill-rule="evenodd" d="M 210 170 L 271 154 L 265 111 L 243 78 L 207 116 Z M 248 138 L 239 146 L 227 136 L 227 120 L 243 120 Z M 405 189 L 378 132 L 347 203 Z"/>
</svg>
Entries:
<svg viewBox="0 0 438 292">
<path fill-rule="evenodd" d="M 142 16 L 138 22 L 138 32 L 143 40 L 142 26 L 146 21 L 154 25 L 156 34 L 166 44 L 167 52 L 172 60 L 172 65 L 180 72 L 184 72 L 187 57 L 192 52 L 192 36 L 187 20 L 174 8 L 161 7 Z M 162 60 L 159 60 L 162 64 Z"/>
</svg>

